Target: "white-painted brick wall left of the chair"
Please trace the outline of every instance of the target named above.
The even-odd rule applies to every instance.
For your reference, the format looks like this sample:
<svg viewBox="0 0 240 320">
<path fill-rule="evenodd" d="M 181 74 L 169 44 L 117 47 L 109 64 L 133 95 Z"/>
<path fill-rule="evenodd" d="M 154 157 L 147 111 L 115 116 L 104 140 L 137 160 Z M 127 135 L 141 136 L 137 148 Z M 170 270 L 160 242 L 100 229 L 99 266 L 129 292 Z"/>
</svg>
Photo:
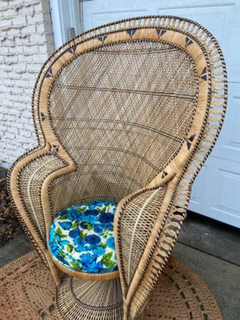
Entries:
<svg viewBox="0 0 240 320">
<path fill-rule="evenodd" d="M 0 0 L 0 166 L 36 145 L 31 94 L 52 51 L 48 0 Z"/>
</svg>

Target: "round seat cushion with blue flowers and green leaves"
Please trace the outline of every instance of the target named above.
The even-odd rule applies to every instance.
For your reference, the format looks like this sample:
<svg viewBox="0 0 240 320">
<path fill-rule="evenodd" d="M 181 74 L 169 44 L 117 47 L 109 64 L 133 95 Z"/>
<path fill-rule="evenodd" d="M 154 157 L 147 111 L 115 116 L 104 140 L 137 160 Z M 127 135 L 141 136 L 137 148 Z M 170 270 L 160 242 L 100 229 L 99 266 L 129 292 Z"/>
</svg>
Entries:
<svg viewBox="0 0 240 320">
<path fill-rule="evenodd" d="M 93 201 L 61 210 L 51 225 L 51 255 L 75 271 L 118 270 L 113 237 L 116 208 L 113 201 Z"/>
</svg>

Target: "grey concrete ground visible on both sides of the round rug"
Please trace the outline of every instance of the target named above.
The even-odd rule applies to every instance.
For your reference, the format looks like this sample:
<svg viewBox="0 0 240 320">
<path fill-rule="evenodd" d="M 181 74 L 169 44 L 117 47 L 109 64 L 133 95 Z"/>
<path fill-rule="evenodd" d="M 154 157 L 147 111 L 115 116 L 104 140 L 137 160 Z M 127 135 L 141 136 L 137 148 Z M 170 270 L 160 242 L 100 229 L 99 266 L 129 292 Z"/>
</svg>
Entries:
<svg viewBox="0 0 240 320">
<path fill-rule="evenodd" d="M 24 234 L 0 247 L 0 267 L 33 250 Z M 212 290 L 224 320 L 240 320 L 240 230 L 189 212 L 172 255 Z"/>
</svg>

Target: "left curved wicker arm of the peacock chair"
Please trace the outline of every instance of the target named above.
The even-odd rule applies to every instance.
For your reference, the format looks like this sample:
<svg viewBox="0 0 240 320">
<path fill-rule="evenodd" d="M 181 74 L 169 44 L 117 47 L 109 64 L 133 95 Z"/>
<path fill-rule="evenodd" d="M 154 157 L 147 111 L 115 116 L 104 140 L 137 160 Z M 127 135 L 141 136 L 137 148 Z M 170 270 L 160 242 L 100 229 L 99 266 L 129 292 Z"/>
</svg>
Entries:
<svg viewBox="0 0 240 320">
<path fill-rule="evenodd" d="M 56 282 L 59 274 L 51 260 L 47 248 L 47 218 L 51 211 L 43 209 L 49 206 L 48 181 L 51 176 L 66 171 L 66 162 L 49 146 L 44 149 L 37 147 L 21 156 L 9 172 L 9 191 L 16 215 L 28 235 L 29 240 L 40 253 L 44 262 L 48 262 Z"/>
</svg>

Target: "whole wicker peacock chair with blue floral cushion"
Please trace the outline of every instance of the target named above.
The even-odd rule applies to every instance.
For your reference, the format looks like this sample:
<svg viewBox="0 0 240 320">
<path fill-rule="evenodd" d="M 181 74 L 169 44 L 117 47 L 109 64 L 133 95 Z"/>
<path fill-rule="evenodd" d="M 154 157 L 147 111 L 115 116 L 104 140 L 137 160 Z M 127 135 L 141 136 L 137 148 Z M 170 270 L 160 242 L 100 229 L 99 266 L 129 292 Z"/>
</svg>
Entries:
<svg viewBox="0 0 240 320">
<path fill-rule="evenodd" d="M 43 65 L 32 101 L 38 146 L 16 161 L 9 188 L 65 319 L 142 314 L 226 98 L 218 43 L 175 16 L 100 26 Z"/>
</svg>

